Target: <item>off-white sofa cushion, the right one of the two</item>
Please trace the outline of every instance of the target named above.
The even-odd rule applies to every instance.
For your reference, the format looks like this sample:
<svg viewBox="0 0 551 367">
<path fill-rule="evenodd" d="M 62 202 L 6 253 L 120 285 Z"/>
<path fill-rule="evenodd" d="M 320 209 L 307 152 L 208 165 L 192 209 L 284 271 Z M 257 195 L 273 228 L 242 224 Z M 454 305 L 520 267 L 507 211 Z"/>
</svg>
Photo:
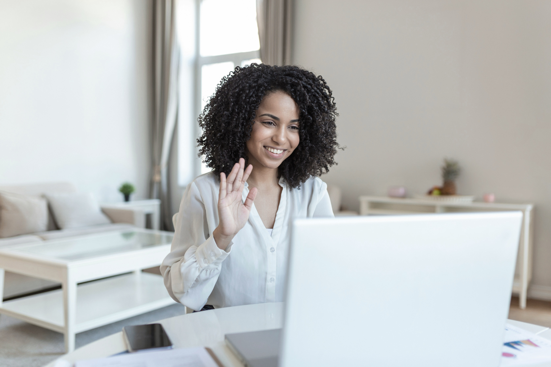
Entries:
<svg viewBox="0 0 551 367">
<path fill-rule="evenodd" d="M 111 223 L 91 193 L 45 194 L 57 227 L 61 229 Z M 38 232 L 38 231 L 36 231 Z"/>
</svg>

